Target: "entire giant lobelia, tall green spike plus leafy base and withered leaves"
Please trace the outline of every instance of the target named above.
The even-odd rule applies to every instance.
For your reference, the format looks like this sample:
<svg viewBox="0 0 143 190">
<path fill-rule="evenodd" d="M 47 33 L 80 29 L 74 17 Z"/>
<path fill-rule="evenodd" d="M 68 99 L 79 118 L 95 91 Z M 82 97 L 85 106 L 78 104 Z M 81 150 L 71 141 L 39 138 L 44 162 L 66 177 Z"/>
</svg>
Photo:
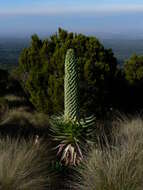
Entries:
<svg viewBox="0 0 143 190">
<path fill-rule="evenodd" d="M 64 115 L 53 117 L 51 126 L 58 141 L 58 156 L 65 165 L 77 165 L 83 160 L 82 145 L 87 143 L 95 117 L 80 118 L 78 65 L 73 49 L 65 59 Z"/>
</svg>

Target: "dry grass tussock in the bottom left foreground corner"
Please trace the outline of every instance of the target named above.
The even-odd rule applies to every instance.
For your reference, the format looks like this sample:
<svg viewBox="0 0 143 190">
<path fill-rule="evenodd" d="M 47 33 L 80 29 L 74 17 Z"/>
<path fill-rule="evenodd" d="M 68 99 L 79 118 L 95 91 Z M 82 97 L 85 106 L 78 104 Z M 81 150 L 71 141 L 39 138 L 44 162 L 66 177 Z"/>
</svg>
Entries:
<svg viewBox="0 0 143 190">
<path fill-rule="evenodd" d="M 48 190 L 50 173 L 46 147 L 33 141 L 0 139 L 0 189 Z"/>
</svg>

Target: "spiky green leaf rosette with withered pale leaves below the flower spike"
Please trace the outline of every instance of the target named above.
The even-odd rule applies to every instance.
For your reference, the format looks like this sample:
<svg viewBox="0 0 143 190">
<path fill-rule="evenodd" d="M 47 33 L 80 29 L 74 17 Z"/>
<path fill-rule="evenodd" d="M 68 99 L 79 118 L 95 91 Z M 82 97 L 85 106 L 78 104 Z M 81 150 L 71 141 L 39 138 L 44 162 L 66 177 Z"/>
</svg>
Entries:
<svg viewBox="0 0 143 190">
<path fill-rule="evenodd" d="M 64 165 L 78 165 L 83 160 L 84 146 L 91 139 L 92 122 L 81 124 L 77 121 L 66 121 L 64 116 L 53 116 L 51 119 L 51 131 L 53 140 L 58 142 L 56 149 L 60 162 Z"/>
</svg>

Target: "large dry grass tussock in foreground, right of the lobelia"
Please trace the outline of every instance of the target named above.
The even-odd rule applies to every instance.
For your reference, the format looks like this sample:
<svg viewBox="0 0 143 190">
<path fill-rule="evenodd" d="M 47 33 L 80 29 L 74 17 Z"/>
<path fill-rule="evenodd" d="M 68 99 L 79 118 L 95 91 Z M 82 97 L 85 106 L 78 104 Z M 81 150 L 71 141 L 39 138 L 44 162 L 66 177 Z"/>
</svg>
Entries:
<svg viewBox="0 0 143 190">
<path fill-rule="evenodd" d="M 112 145 L 106 141 L 104 148 L 99 145 L 91 150 L 75 176 L 75 189 L 143 189 L 143 120 L 118 120 L 113 135 Z"/>
</svg>

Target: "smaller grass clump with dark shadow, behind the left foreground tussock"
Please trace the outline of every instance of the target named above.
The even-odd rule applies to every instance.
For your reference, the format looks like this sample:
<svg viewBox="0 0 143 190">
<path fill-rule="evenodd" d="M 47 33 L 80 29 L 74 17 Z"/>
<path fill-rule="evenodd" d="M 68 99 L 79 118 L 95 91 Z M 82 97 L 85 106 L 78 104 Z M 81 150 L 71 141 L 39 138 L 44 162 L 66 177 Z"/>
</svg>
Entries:
<svg viewBox="0 0 143 190">
<path fill-rule="evenodd" d="M 49 117 L 43 113 L 22 111 L 19 108 L 9 110 L 1 118 L 0 134 L 25 138 L 38 135 L 49 141 Z"/>
</svg>

